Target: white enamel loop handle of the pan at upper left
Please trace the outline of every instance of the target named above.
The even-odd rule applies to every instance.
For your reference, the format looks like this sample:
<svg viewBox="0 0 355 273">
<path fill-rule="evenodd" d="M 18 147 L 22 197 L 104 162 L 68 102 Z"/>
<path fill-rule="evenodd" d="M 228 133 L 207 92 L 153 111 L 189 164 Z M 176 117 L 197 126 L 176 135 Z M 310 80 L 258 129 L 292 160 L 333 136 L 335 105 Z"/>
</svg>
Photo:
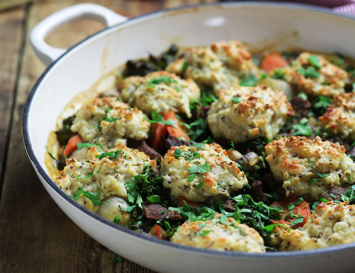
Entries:
<svg viewBox="0 0 355 273">
<path fill-rule="evenodd" d="M 96 4 L 77 4 L 57 11 L 40 21 L 29 34 L 29 40 L 38 58 L 49 65 L 66 49 L 51 47 L 44 39 L 61 25 L 80 17 L 94 18 L 106 23 L 107 27 L 126 21 L 128 18 Z"/>
</svg>

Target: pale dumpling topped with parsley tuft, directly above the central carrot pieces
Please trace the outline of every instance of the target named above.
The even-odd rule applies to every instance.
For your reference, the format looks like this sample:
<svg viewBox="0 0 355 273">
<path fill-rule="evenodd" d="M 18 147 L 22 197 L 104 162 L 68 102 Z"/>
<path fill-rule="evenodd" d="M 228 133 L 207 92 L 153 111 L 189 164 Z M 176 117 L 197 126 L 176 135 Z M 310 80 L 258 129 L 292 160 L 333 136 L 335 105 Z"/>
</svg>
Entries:
<svg viewBox="0 0 355 273">
<path fill-rule="evenodd" d="M 155 71 L 144 77 L 125 78 L 121 97 L 130 105 L 150 114 L 152 110 L 166 115 L 170 111 L 191 117 L 190 100 L 200 98 L 200 88 L 192 80 L 182 80 L 166 71 Z"/>
</svg>

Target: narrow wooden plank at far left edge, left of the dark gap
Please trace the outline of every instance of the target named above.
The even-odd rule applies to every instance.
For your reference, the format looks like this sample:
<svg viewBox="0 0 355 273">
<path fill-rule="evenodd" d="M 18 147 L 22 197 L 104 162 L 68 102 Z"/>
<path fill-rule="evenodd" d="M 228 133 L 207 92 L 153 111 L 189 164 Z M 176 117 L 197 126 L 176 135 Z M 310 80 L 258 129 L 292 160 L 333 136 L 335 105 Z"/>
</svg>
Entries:
<svg viewBox="0 0 355 273">
<path fill-rule="evenodd" d="M 22 48 L 24 7 L 0 13 L 0 188 Z"/>
</svg>

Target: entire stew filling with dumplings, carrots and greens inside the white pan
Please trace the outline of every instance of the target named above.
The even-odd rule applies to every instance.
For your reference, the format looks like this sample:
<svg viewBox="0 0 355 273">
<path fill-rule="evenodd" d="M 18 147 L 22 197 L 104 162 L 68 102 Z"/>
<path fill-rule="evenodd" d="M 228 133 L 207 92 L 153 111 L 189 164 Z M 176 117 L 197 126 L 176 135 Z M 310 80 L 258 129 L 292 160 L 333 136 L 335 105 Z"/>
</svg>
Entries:
<svg viewBox="0 0 355 273">
<path fill-rule="evenodd" d="M 146 236 L 220 251 L 355 242 L 355 66 L 237 40 L 130 60 L 64 109 L 45 161 Z"/>
</svg>

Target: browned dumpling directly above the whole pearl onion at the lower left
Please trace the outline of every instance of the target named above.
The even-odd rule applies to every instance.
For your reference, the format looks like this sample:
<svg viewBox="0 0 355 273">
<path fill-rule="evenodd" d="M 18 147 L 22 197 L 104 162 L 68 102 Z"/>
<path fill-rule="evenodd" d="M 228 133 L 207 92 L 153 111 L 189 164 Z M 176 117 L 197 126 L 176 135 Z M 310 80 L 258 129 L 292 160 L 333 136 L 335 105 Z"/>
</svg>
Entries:
<svg viewBox="0 0 355 273">
<path fill-rule="evenodd" d="M 148 155 L 138 150 L 127 148 L 123 144 L 110 151 L 122 151 L 118 159 L 104 157 L 101 160 L 96 158 L 101 154 L 96 147 L 91 147 L 87 154 L 87 160 L 78 161 L 75 157 L 66 159 L 66 166 L 61 171 L 56 184 L 68 195 L 75 196 L 78 189 L 83 187 L 83 192 L 89 191 L 97 195 L 101 190 L 100 201 L 110 196 L 127 198 L 125 184 L 129 183 L 132 177 L 145 173 L 145 165 L 152 166 L 155 170 L 156 162 Z M 126 158 L 125 158 L 126 157 Z M 111 195 L 110 195 L 111 193 Z M 81 195 L 78 200 L 82 206 L 92 212 L 98 212 L 95 206 L 87 197 Z M 122 204 L 123 205 L 123 204 Z M 106 213 L 108 214 L 108 213 Z M 118 215 L 120 219 L 127 219 L 126 212 Z M 124 224 L 124 221 L 120 222 Z"/>
</svg>

